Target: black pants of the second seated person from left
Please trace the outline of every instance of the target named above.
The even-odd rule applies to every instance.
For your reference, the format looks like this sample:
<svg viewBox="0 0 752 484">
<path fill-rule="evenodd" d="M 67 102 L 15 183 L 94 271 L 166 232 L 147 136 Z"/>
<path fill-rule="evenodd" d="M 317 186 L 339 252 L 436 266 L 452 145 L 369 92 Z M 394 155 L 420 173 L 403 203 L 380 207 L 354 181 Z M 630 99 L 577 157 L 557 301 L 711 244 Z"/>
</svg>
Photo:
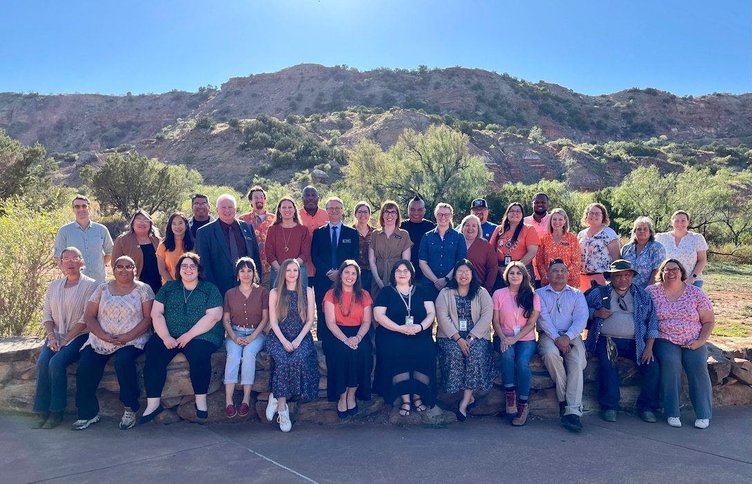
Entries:
<svg viewBox="0 0 752 484">
<path fill-rule="evenodd" d="M 79 419 L 93 419 L 99 413 L 99 399 L 96 389 L 102 381 L 105 366 L 112 356 L 115 357 L 115 374 L 120 386 L 120 401 L 138 411 L 138 377 L 136 377 L 136 358 L 143 349 L 135 346 L 123 346 L 111 355 L 100 355 L 91 346 L 81 350 L 81 359 L 76 369 L 76 408 Z"/>
</svg>

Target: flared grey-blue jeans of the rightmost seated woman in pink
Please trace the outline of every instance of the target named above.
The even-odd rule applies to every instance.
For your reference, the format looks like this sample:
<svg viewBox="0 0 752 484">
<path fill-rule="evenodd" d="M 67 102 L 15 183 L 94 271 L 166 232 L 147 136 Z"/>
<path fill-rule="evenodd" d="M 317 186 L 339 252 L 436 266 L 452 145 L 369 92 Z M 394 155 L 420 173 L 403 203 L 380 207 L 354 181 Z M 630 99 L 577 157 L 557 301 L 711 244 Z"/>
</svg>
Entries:
<svg viewBox="0 0 752 484">
<path fill-rule="evenodd" d="M 708 345 L 698 349 L 682 348 L 669 340 L 656 339 L 653 352 L 660 362 L 660 380 L 663 387 L 663 413 L 667 417 L 681 416 L 681 370 L 687 372 L 690 400 L 697 419 L 713 417 L 713 387 L 708 374 Z"/>
</svg>

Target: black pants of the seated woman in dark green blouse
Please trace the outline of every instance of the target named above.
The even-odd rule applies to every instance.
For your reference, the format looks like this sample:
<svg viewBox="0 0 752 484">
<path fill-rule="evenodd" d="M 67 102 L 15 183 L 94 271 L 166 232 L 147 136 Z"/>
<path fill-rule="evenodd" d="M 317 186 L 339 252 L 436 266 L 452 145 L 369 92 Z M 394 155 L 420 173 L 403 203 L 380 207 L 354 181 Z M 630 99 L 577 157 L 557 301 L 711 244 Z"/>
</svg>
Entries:
<svg viewBox="0 0 752 484">
<path fill-rule="evenodd" d="M 144 364 L 144 386 L 147 398 L 159 398 L 167 381 L 167 365 L 177 353 L 182 352 L 188 360 L 190 383 L 193 393 L 205 395 L 211 381 L 211 354 L 217 345 L 207 340 L 190 340 L 184 348 L 167 349 L 159 334 L 153 334 L 146 343 L 146 363 Z"/>
</svg>

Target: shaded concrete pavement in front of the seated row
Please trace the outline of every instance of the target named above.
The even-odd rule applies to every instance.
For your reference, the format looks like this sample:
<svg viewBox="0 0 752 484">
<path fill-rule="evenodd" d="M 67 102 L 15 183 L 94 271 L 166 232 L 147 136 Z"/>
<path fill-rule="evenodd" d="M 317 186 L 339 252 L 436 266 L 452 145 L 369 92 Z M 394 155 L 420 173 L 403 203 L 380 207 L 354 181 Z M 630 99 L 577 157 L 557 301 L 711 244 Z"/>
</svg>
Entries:
<svg viewBox="0 0 752 484">
<path fill-rule="evenodd" d="M 659 416 L 660 418 L 662 416 Z M 443 428 L 180 422 L 129 431 L 103 419 L 71 431 L 32 430 L 29 416 L 0 415 L 0 482 L 752 482 L 752 407 L 714 410 L 710 428 L 670 428 L 620 413 L 558 420 L 469 418 Z"/>
</svg>

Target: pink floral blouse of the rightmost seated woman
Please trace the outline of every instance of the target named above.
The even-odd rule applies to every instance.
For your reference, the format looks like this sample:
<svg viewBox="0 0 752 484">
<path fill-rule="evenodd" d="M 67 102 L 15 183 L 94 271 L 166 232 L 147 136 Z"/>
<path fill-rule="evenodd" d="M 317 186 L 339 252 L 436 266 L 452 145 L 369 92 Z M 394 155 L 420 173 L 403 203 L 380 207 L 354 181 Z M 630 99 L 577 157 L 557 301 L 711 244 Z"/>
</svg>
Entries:
<svg viewBox="0 0 752 484">
<path fill-rule="evenodd" d="M 645 289 L 653 299 L 658 313 L 658 337 L 684 346 L 696 340 L 700 335 L 702 322 L 699 311 L 712 311 L 708 296 L 699 287 L 687 284 L 676 302 L 666 298 L 662 283 L 647 286 Z"/>
</svg>

